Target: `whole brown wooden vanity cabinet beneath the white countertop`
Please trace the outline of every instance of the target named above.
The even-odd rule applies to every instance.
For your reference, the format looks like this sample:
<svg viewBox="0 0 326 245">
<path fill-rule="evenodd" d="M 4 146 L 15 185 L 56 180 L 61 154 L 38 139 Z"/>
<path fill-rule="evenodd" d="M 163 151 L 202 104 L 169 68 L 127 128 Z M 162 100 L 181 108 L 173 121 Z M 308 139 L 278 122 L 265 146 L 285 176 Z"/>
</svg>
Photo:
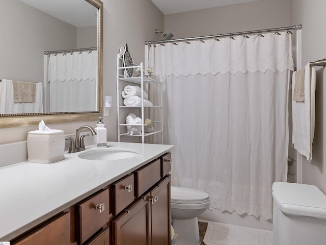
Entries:
<svg viewBox="0 0 326 245">
<path fill-rule="evenodd" d="M 168 153 L 108 183 L 11 244 L 171 244 L 170 170 Z"/>
</svg>

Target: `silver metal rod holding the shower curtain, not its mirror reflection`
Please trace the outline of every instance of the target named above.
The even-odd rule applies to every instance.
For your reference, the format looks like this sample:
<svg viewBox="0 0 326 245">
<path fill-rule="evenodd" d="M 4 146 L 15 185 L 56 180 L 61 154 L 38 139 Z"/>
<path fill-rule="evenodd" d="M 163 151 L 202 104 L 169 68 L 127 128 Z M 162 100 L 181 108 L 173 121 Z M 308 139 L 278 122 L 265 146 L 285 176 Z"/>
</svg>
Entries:
<svg viewBox="0 0 326 245">
<path fill-rule="evenodd" d="M 261 33 L 268 33 L 268 32 L 278 32 L 278 31 L 290 31 L 290 30 L 301 30 L 302 25 L 297 24 L 296 26 L 292 27 L 281 27 L 281 28 L 274 28 L 274 29 L 262 29 L 262 30 L 255 30 L 255 31 L 247 31 L 247 32 L 234 32 L 234 33 L 226 33 L 226 34 L 216 34 L 210 36 L 202 36 L 202 37 L 188 37 L 188 38 L 179 38 L 179 39 L 172 39 L 172 40 L 162 40 L 162 41 L 145 41 L 145 45 L 149 44 L 156 44 L 156 43 L 167 43 L 167 42 L 181 42 L 181 41 L 191 41 L 191 40 L 202 40 L 202 39 L 211 39 L 211 38 L 219 38 L 219 37 L 232 37 L 232 36 L 240 36 L 240 35 L 250 35 L 250 34 L 261 34 Z"/>
</svg>

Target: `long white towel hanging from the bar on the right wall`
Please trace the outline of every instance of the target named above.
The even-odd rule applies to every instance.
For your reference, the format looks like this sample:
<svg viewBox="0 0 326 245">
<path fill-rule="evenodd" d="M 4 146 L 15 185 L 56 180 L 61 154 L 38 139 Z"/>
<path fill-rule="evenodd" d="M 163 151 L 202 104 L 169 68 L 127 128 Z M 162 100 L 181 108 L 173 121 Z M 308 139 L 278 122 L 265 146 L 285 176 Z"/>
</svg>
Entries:
<svg viewBox="0 0 326 245">
<path fill-rule="evenodd" d="M 292 75 L 292 97 L 297 72 Z M 312 141 L 315 133 L 316 70 L 308 63 L 305 66 L 305 100 L 292 100 L 292 146 L 298 153 L 312 160 Z"/>
</svg>

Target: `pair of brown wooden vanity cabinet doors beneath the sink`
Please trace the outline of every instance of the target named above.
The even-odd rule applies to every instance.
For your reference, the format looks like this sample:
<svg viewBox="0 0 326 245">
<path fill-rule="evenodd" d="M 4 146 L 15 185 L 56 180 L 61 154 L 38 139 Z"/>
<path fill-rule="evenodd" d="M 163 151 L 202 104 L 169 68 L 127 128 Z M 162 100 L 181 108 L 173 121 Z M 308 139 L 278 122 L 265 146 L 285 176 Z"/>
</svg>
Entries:
<svg viewBox="0 0 326 245">
<path fill-rule="evenodd" d="M 170 178 L 165 177 L 112 222 L 112 245 L 171 244 Z"/>
</svg>

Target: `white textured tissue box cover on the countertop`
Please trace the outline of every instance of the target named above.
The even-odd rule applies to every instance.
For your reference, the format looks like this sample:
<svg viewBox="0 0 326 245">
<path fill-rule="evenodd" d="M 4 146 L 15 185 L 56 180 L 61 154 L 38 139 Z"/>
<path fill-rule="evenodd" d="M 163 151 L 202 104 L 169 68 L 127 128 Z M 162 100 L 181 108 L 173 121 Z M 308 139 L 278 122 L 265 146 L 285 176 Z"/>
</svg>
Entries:
<svg viewBox="0 0 326 245">
<path fill-rule="evenodd" d="M 34 130 L 27 135 L 28 162 L 52 163 L 65 159 L 65 134 L 62 130 Z"/>
</svg>

